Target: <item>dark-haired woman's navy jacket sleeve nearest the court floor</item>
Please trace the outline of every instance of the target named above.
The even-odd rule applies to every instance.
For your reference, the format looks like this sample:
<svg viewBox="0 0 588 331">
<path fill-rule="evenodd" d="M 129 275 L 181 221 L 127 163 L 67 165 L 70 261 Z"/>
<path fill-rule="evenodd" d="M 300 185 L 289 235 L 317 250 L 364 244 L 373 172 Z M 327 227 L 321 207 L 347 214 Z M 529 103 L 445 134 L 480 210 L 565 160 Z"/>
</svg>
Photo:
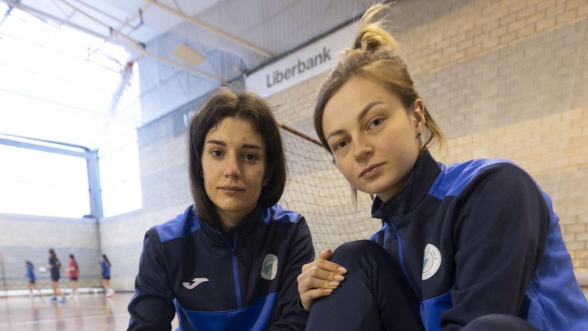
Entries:
<svg viewBox="0 0 588 331">
<path fill-rule="evenodd" d="M 161 244 L 155 229 L 147 231 L 135 279 L 135 295 L 129 303 L 129 331 L 171 330 L 175 316 L 173 292 L 163 265 Z"/>
</svg>

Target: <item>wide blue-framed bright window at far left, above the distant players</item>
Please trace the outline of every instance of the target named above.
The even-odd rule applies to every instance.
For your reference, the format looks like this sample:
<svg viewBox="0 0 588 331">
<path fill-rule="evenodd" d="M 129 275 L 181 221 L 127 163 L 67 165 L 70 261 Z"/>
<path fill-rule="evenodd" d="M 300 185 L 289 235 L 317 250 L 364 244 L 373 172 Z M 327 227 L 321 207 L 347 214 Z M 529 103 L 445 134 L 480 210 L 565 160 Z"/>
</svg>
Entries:
<svg viewBox="0 0 588 331">
<path fill-rule="evenodd" d="M 0 213 L 90 214 L 86 159 L 0 144 Z"/>
</svg>

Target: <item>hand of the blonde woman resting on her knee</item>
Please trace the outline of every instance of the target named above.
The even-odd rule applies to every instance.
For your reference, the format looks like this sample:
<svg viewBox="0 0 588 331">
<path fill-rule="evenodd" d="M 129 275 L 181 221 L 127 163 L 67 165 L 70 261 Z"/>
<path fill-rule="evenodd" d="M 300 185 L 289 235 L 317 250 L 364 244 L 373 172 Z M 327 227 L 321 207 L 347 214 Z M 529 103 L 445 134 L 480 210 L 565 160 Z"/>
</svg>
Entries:
<svg viewBox="0 0 588 331">
<path fill-rule="evenodd" d="M 321 251 L 319 259 L 302 266 L 302 273 L 298 275 L 298 293 L 302 307 L 310 310 L 312 302 L 318 297 L 328 296 L 343 282 L 342 275 L 347 272 L 339 264 L 329 262 L 333 256 L 331 250 Z"/>
</svg>

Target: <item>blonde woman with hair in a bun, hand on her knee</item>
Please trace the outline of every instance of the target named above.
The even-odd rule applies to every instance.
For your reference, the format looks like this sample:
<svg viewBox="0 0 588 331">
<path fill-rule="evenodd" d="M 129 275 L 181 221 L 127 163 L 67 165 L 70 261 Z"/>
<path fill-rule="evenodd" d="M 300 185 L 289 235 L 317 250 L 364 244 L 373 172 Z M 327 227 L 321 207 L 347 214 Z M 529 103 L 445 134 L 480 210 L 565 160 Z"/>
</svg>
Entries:
<svg viewBox="0 0 588 331">
<path fill-rule="evenodd" d="M 445 139 L 373 20 L 385 9 L 364 14 L 315 108 L 320 141 L 354 190 L 376 196 L 382 228 L 303 267 L 307 330 L 588 330 L 558 217 L 533 178 L 507 160 L 445 166 L 429 154 Z"/>
</svg>

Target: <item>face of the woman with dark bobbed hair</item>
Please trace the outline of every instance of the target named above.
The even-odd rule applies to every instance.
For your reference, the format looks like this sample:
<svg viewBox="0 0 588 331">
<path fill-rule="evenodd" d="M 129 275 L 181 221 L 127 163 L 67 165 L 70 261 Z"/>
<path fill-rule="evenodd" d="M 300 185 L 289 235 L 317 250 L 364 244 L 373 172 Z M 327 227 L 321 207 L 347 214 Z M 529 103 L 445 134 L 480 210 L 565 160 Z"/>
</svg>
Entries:
<svg viewBox="0 0 588 331">
<path fill-rule="evenodd" d="M 263 137 L 247 121 L 225 117 L 206 134 L 202 170 L 206 194 L 219 213 L 233 219 L 252 211 L 266 176 Z"/>
</svg>

